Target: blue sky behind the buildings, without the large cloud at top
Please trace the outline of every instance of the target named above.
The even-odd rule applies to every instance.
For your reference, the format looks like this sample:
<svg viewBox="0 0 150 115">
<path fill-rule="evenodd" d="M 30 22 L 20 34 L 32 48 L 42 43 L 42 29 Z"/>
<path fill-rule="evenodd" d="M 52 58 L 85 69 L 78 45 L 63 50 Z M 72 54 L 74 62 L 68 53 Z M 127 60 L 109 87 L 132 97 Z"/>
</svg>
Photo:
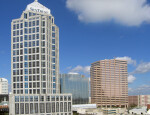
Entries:
<svg viewBox="0 0 150 115">
<path fill-rule="evenodd" d="M 33 0 L 2 0 L 1 2 L 0 9 L 4 12 L 2 12 L 0 22 L 3 27 L 0 35 L 3 41 L 0 43 L 0 76 L 8 76 L 5 78 L 10 83 L 10 22 L 12 19 L 19 18 L 26 5 Z M 79 21 L 77 15 L 66 7 L 64 0 L 39 0 L 39 2 L 51 9 L 52 15 L 55 16 L 55 23 L 60 28 L 60 73 L 79 72 L 89 77 L 87 73 L 91 63 L 126 56 L 130 57 L 129 60 L 132 62 L 128 61 L 128 72 L 132 73 L 131 81 L 136 77 L 136 80 L 129 84 L 129 89 L 150 87 L 148 86 L 150 81 L 147 80 L 150 75 L 150 59 L 148 59 L 147 50 L 150 48 L 148 31 L 150 25 L 148 23 L 139 26 L 120 25 L 112 21 L 84 23 Z M 133 72 L 136 73 L 133 74 Z"/>
</svg>

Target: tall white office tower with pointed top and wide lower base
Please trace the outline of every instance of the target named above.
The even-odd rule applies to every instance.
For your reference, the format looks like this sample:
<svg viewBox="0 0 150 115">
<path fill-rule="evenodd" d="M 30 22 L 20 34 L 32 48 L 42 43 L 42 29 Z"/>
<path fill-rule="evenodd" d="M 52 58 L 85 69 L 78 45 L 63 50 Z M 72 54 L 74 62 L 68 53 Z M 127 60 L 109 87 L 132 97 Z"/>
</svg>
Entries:
<svg viewBox="0 0 150 115">
<path fill-rule="evenodd" d="M 59 28 L 37 0 L 11 23 L 10 115 L 72 115 L 72 95 L 60 94 Z"/>
</svg>

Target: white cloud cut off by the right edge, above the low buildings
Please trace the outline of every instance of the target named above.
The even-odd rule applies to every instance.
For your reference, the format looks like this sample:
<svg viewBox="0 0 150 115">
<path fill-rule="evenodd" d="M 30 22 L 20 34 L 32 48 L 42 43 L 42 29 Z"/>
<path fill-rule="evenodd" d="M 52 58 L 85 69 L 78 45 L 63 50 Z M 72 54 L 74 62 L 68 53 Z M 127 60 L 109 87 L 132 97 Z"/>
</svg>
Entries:
<svg viewBox="0 0 150 115">
<path fill-rule="evenodd" d="M 143 62 L 137 66 L 133 73 L 147 73 L 150 72 L 150 62 Z"/>
</svg>

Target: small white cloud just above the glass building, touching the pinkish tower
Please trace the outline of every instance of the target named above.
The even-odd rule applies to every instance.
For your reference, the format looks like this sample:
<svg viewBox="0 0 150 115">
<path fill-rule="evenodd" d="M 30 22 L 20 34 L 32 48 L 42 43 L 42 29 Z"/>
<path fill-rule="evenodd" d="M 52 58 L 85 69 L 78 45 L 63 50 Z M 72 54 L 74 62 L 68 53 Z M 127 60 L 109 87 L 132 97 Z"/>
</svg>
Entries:
<svg viewBox="0 0 150 115">
<path fill-rule="evenodd" d="M 71 69 L 69 71 L 70 74 L 77 74 L 77 73 L 85 73 L 89 74 L 90 73 L 90 66 L 76 66 L 75 68 Z"/>
</svg>

